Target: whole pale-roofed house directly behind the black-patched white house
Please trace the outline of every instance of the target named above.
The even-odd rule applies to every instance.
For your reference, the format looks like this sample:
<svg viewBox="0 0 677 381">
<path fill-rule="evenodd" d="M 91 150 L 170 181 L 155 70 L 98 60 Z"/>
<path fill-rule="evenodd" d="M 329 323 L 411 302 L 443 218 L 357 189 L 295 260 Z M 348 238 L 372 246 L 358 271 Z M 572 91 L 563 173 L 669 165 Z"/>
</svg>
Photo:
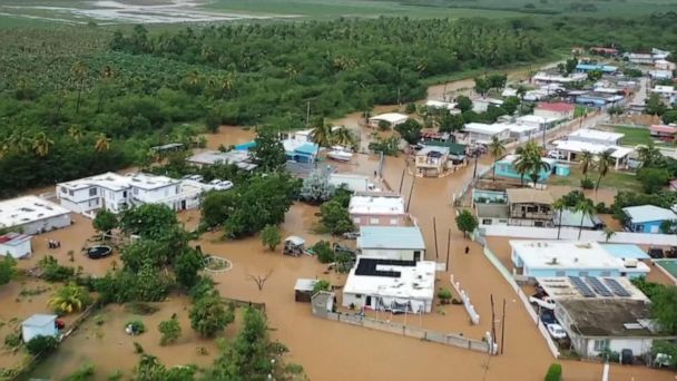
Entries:
<svg viewBox="0 0 677 381">
<path fill-rule="evenodd" d="M 418 226 L 360 226 L 361 255 L 398 261 L 421 261 L 425 242 Z"/>
</svg>

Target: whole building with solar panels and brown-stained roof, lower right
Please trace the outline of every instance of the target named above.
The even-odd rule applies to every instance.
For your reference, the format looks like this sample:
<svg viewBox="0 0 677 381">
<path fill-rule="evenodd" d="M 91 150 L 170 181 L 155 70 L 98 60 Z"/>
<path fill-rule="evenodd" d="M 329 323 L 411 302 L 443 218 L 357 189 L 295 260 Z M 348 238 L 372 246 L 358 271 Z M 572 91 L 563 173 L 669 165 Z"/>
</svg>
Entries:
<svg viewBox="0 0 677 381">
<path fill-rule="evenodd" d="M 631 350 L 641 356 L 660 335 L 650 319 L 648 297 L 625 277 L 546 277 L 538 284 L 555 302 L 555 316 L 583 358 L 605 350 Z"/>
</svg>

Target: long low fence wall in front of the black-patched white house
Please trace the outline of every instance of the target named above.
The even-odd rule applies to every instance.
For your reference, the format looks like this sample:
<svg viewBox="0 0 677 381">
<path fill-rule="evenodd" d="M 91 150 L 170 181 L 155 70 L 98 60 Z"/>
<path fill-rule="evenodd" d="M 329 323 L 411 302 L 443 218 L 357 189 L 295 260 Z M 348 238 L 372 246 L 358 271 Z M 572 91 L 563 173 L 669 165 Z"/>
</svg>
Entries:
<svg viewBox="0 0 677 381">
<path fill-rule="evenodd" d="M 419 326 L 411 326 L 405 324 L 399 324 L 393 322 L 386 322 L 382 320 L 375 320 L 366 316 L 355 315 L 355 314 L 346 314 L 346 313 L 335 313 L 330 312 L 326 316 L 322 316 L 315 314 L 318 318 L 325 318 L 332 321 L 342 322 L 345 324 L 356 325 L 366 328 L 370 330 L 376 330 L 382 332 L 389 332 L 393 334 L 400 334 L 408 338 L 430 341 L 434 343 L 440 343 L 450 346 L 457 346 L 462 349 L 468 349 L 471 351 L 489 353 L 490 344 L 487 341 L 468 339 L 458 334 L 451 333 L 442 333 L 424 330 Z M 493 354 L 498 353 L 498 348 L 494 346 Z"/>
</svg>

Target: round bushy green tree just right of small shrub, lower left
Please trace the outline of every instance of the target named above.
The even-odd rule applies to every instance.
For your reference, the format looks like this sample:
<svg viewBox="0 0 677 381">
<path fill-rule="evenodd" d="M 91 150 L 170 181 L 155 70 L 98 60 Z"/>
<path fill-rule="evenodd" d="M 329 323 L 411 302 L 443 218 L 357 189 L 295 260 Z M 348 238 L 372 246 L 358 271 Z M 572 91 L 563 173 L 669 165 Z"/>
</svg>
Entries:
<svg viewBox="0 0 677 381">
<path fill-rule="evenodd" d="M 203 338 L 213 338 L 235 320 L 235 306 L 227 307 L 217 295 L 205 295 L 188 312 L 190 326 Z"/>
</svg>

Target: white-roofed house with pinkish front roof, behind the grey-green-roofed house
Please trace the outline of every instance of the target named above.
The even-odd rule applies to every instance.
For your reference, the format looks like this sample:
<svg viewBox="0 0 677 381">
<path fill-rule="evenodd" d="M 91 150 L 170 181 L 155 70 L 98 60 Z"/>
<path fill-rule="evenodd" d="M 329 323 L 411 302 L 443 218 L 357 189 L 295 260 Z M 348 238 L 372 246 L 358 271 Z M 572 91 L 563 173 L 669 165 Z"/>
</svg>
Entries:
<svg viewBox="0 0 677 381">
<path fill-rule="evenodd" d="M 404 198 L 394 193 L 355 193 L 347 212 L 356 226 L 404 226 L 409 222 Z"/>
</svg>

